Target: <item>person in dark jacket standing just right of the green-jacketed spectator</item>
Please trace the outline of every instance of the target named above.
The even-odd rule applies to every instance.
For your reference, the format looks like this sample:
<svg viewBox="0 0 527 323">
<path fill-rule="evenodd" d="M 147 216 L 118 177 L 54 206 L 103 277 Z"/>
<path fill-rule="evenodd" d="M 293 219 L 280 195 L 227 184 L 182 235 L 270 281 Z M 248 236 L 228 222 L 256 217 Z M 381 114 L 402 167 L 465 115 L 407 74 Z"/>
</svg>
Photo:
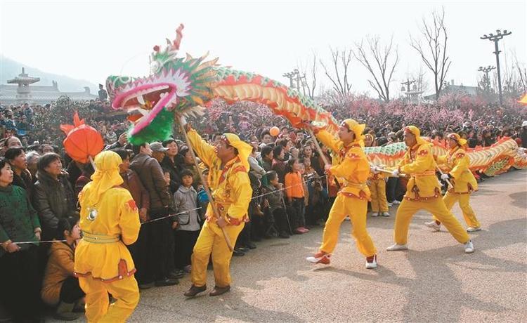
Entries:
<svg viewBox="0 0 527 323">
<path fill-rule="evenodd" d="M 60 156 L 48 152 L 39 159 L 33 205 L 39 213 L 44 239 L 55 238 L 58 220 L 77 213 L 72 186 Z"/>
</svg>

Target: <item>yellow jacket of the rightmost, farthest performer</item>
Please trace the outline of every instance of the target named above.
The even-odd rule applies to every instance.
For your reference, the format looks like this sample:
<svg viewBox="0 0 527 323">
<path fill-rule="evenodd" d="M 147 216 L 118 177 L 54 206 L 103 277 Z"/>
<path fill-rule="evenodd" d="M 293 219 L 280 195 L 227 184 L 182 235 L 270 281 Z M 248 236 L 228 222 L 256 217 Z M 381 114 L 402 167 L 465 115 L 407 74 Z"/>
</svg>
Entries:
<svg viewBox="0 0 527 323">
<path fill-rule="evenodd" d="M 478 190 L 478 182 L 469 170 L 470 159 L 462 147 L 456 147 L 448 155 L 438 157 L 437 164 L 443 164 L 445 171 L 452 176 L 450 183 L 454 189 L 450 189 L 450 192 L 464 194 Z"/>
</svg>

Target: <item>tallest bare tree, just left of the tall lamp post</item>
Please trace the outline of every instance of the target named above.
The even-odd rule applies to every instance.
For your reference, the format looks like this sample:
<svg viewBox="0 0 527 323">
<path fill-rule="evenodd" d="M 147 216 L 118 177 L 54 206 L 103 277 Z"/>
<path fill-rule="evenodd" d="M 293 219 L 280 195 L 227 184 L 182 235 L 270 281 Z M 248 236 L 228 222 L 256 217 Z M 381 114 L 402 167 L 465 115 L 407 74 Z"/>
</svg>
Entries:
<svg viewBox="0 0 527 323">
<path fill-rule="evenodd" d="M 424 42 L 415 39 L 410 34 L 410 46 L 414 48 L 421 56 L 432 74 L 434 74 L 434 86 L 436 89 L 436 100 L 439 98 L 441 90 L 443 89 L 443 81 L 445 80 L 448 69 L 450 68 L 450 57 L 446 55 L 447 33 L 445 28 L 445 9 L 441 9 L 441 13 L 432 11 L 432 22 L 429 23 L 423 18 L 421 34 L 424 36 Z"/>
</svg>

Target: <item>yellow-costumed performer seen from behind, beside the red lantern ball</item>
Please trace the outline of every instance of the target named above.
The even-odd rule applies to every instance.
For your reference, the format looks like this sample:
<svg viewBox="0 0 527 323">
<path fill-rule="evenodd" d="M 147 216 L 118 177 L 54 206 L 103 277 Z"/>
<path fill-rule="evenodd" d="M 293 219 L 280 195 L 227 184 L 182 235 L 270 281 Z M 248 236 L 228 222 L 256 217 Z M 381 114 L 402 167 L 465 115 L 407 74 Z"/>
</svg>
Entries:
<svg viewBox="0 0 527 323">
<path fill-rule="evenodd" d="M 92 181 L 79 194 L 82 240 L 74 275 L 86 293 L 88 322 L 124 322 L 139 302 L 136 268 L 125 244 L 136 242 L 139 213 L 130 192 L 119 187 L 122 159 L 115 152 L 95 158 Z M 109 305 L 108 293 L 117 299 Z"/>
</svg>

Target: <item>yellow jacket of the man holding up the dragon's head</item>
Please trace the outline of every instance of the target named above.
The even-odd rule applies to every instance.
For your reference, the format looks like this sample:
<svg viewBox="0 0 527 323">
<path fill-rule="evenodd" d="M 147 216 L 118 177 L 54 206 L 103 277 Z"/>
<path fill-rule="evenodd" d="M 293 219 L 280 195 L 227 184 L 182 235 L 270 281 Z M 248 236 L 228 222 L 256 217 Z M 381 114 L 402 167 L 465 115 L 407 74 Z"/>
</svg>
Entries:
<svg viewBox="0 0 527 323">
<path fill-rule="evenodd" d="M 252 197 L 249 169 L 244 166 L 240 157 L 231 159 L 222 168 L 221 159 L 216 156 L 212 145 L 203 140 L 194 129 L 190 129 L 187 134 L 197 156 L 209 168 L 209 187 L 220 216 L 228 223 L 238 225 L 247 218 Z M 210 204 L 207 207 L 207 220 L 216 222 Z"/>
</svg>

